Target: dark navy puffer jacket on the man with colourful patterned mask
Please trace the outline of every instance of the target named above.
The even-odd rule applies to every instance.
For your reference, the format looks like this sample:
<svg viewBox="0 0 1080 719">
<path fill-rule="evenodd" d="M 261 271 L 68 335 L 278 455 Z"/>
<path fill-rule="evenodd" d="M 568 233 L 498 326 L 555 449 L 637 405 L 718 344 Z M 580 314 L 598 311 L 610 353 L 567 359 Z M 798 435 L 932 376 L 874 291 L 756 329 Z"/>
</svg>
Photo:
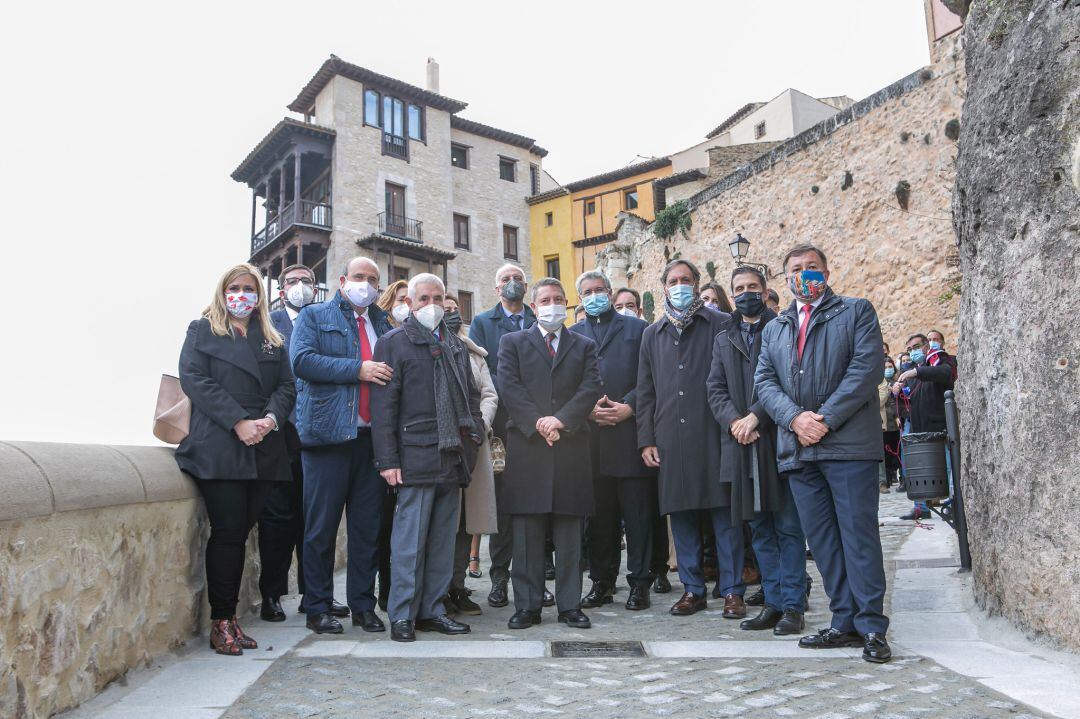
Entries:
<svg viewBox="0 0 1080 719">
<path fill-rule="evenodd" d="M 798 358 L 797 302 L 765 326 L 754 385 L 778 426 L 777 463 L 793 472 L 804 462 L 824 460 L 882 461 L 881 327 L 868 300 L 825 290 L 810 315 L 806 347 Z M 821 442 L 799 444 L 789 429 L 802 411 L 825 418 Z"/>
</svg>

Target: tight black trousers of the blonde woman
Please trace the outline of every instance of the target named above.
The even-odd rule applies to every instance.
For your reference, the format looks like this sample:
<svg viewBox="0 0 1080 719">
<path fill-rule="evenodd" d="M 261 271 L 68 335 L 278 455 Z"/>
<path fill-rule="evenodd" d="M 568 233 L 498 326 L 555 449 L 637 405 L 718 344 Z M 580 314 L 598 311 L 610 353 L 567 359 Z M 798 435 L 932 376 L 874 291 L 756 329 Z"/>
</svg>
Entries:
<svg viewBox="0 0 1080 719">
<path fill-rule="evenodd" d="M 199 479 L 195 485 L 206 504 L 210 540 L 206 542 L 206 594 L 211 620 L 237 615 L 240 582 L 244 575 L 244 543 L 262 514 L 273 485 L 264 479 Z"/>
</svg>

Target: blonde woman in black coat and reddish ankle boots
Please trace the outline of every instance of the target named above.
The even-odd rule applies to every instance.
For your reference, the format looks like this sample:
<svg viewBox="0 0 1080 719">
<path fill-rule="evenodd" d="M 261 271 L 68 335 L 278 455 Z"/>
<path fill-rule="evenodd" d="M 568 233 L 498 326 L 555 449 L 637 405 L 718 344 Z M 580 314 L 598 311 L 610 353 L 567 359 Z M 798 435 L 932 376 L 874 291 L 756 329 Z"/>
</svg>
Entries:
<svg viewBox="0 0 1080 719">
<path fill-rule="evenodd" d="M 191 429 L 176 462 L 206 503 L 210 643 L 228 655 L 258 646 L 237 623 L 244 543 L 271 483 L 292 480 L 278 422 L 293 410 L 296 386 L 264 286 L 251 264 L 227 271 L 203 316 L 188 326 L 180 351 Z"/>
</svg>

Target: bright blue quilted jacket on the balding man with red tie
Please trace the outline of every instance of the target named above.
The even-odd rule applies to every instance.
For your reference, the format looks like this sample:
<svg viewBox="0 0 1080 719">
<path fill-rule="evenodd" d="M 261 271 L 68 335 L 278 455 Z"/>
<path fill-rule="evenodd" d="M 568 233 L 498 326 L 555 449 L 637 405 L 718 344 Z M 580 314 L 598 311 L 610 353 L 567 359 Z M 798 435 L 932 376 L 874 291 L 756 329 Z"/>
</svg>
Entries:
<svg viewBox="0 0 1080 719">
<path fill-rule="evenodd" d="M 390 331 L 387 313 L 367 308 L 376 337 Z M 372 348 L 373 354 L 375 348 Z M 356 438 L 360 405 L 360 334 L 349 300 L 337 293 L 309 304 L 293 323 L 289 343 L 296 375 L 296 430 L 303 447 Z"/>
</svg>

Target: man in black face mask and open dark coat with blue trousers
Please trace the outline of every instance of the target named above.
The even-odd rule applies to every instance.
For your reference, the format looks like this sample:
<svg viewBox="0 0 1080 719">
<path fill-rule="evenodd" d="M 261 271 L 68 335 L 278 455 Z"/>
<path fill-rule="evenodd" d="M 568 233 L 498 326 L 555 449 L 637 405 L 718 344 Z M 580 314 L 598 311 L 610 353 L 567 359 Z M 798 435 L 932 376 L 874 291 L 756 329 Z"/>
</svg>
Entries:
<svg viewBox="0 0 1080 719">
<path fill-rule="evenodd" d="M 708 374 L 708 404 L 720 424 L 720 475 L 731 484 L 731 519 L 748 520 L 761 571 L 765 606 L 743 629 L 802 630 L 806 611 L 806 538 L 792 490 L 777 470 L 777 425 L 754 392 L 761 329 L 777 314 L 765 302 L 765 275 L 753 267 L 731 273 L 735 312 L 716 336 Z"/>
</svg>

